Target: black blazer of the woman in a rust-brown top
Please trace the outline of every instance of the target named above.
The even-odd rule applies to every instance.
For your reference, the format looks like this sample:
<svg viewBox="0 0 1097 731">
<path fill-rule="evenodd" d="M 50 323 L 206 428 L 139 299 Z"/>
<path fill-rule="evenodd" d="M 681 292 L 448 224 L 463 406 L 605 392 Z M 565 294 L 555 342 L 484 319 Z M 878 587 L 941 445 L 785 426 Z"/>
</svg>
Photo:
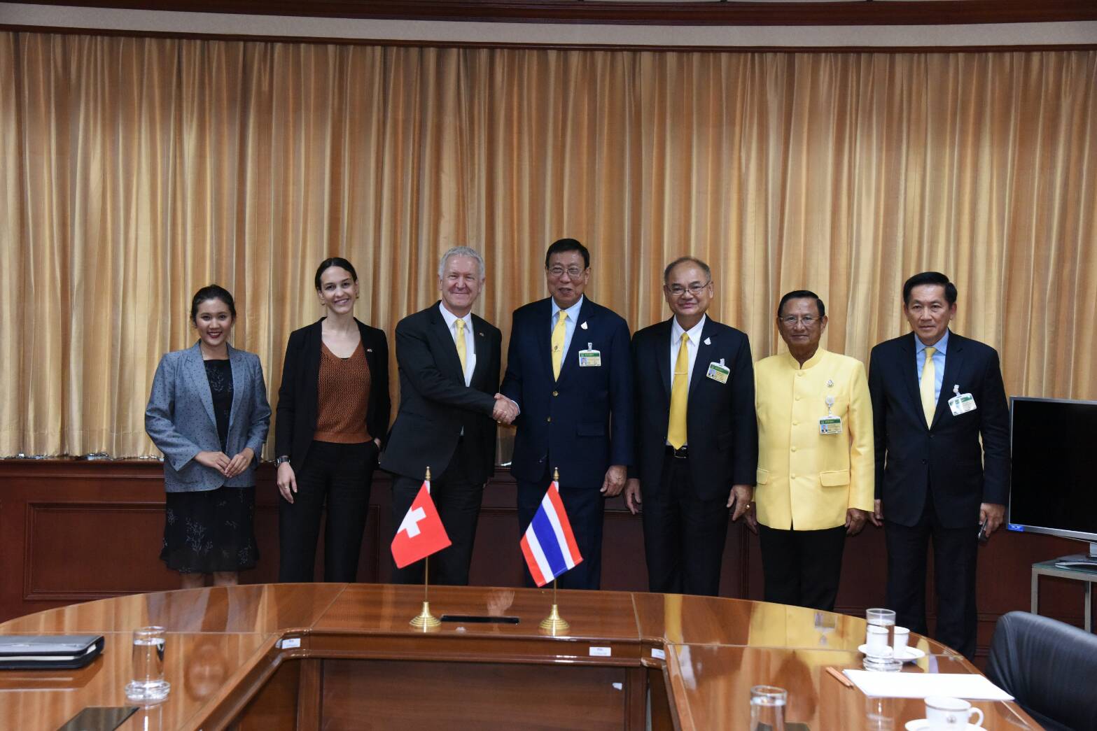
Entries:
<svg viewBox="0 0 1097 731">
<path fill-rule="evenodd" d="M 290 333 L 282 366 L 282 385 L 278 389 L 278 423 L 274 446 L 278 456 L 289 455 L 294 471 L 305 464 L 305 455 L 316 432 L 319 398 L 320 331 L 324 318 Z M 370 400 L 365 411 L 365 427 L 370 436 L 382 438 L 388 429 L 392 401 L 388 397 L 388 341 L 383 330 L 354 320 L 362 335 L 365 361 L 370 364 Z"/>
</svg>

